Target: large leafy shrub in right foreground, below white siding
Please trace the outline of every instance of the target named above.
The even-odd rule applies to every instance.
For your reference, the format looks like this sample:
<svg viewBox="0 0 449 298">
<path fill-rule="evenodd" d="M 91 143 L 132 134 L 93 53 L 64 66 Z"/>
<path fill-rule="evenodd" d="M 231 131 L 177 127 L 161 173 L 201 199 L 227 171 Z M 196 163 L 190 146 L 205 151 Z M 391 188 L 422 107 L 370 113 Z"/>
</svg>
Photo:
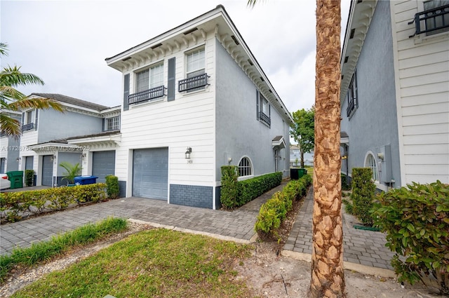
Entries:
<svg viewBox="0 0 449 298">
<path fill-rule="evenodd" d="M 431 274 L 441 294 L 449 294 L 449 185 L 413 183 L 377 199 L 375 224 L 395 252 L 391 265 L 398 280 L 413 284 Z"/>
</svg>

